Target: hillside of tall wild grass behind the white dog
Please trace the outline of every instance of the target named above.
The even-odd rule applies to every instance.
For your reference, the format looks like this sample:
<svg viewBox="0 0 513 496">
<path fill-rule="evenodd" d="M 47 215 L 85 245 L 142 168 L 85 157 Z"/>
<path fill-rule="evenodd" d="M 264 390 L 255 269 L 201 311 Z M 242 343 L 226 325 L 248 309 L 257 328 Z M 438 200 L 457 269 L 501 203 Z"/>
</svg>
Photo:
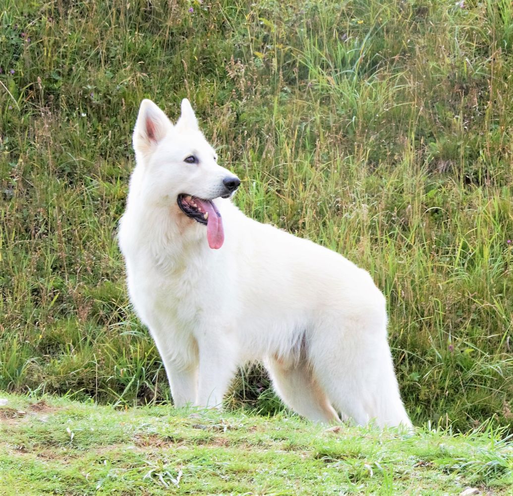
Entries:
<svg viewBox="0 0 513 496">
<path fill-rule="evenodd" d="M 188 97 L 247 215 L 388 300 L 416 423 L 511 423 L 510 2 L 0 3 L 0 388 L 169 397 L 116 223 L 142 98 Z M 258 369 L 231 405 L 281 406 Z"/>
</svg>

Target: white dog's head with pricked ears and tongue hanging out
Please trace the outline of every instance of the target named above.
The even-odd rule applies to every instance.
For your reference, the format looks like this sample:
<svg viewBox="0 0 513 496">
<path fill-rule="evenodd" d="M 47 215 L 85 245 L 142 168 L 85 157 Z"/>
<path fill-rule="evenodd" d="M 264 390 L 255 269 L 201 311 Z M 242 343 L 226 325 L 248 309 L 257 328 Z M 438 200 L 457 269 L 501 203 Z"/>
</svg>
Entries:
<svg viewBox="0 0 513 496">
<path fill-rule="evenodd" d="M 213 200 L 229 198 L 241 182 L 216 162 L 189 101 L 182 100 L 182 115 L 173 125 L 151 100 L 143 100 L 133 147 L 150 201 L 177 204 L 183 215 L 207 226 L 210 247 L 220 248 L 223 224 Z"/>
</svg>

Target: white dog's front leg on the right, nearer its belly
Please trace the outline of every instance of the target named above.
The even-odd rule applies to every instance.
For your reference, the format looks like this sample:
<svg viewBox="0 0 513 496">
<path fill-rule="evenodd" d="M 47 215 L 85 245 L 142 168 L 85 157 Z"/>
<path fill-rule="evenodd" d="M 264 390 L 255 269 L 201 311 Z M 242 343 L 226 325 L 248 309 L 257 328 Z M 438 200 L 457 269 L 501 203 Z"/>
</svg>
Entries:
<svg viewBox="0 0 513 496">
<path fill-rule="evenodd" d="M 221 408 L 233 378 L 237 353 L 226 336 L 205 337 L 199 342 L 200 367 L 196 406 Z"/>
</svg>

